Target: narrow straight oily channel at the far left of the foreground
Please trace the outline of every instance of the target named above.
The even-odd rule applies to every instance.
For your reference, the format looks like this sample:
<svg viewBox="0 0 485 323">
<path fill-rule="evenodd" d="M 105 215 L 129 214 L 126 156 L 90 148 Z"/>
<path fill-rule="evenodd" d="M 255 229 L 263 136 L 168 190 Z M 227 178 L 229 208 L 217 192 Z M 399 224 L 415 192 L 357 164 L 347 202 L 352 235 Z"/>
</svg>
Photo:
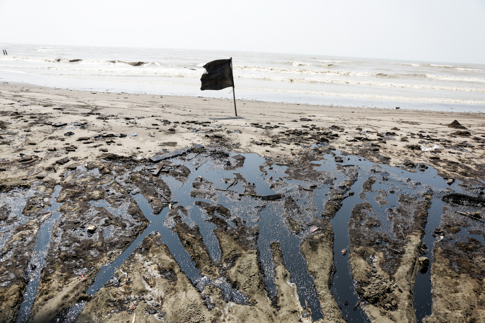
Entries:
<svg viewBox="0 0 485 323">
<path fill-rule="evenodd" d="M 37 295 L 37 288 L 39 287 L 40 276 L 42 269 L 46 264 L 47 252 L 49 251 L 49 243 L 52 238 L 52 227 L 56 219 L 61 215 L 56 210 L 62 205 L 62 203 L 56 203 L 56 199 L 61 191 L 61 186 L 55 187 L 54 192 L 50 198 L 51 205 L 44 210 L 46 213 L 52 212 L 52 216 L 46 219 L 39 231 L 37 232 L 37 243 L 31 260 L 29 261 L 28 268 L 24 271 L 24 275 L 27 275 L 26 279 L 29 280 L 27 288 L 23 294 L 24 301 L 20 305 L 20 310 L 17 314 L 16 323 L 25 323 L 29 319 L 32 309 L 32 303 Z"/>
</svg>

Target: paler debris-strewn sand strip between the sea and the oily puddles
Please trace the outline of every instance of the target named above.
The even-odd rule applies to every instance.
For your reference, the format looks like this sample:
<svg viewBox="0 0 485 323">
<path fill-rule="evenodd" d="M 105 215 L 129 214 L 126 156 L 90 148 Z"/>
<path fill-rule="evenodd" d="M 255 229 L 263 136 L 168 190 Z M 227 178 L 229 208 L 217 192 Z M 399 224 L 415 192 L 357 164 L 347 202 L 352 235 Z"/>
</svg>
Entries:
<svg viewBox="0 0 485 323">
<path fill-rule="evenodd" d="M 89 161 L 105 149 L 113 154 L 147 158 L 162 149 L 170 151 L 210 143 L 236 152 L 252 152 L 292 162 L 299 158 L 301 151 L 318 142 L 315 135 L 331 132 L 338 137 L 321 135 L 322 138 L 330 137 L 329 146 L 374 162 L 393 166 L 406 161 L 429 163 L 439 169 L 443 176 L 453 178 L 483 178 L 485 171 L 485 115 L 482 113 L 238 100 L 239 114 L 235 117 L 233 102 L 225 99 L 85 92 L 5 82 L 0 90 L 2 128 L 5 128 L 4 132 L 18 132 L 15 135 L 4 133 L 2 136 L 4 168 L 12 162 L 15 165 L 19 153 L 36 155 L 38 163 L 50 165 L 55 158 L 64 154 L 68 154 L 69 158 L 75 155 L 79 160 Z M 301 118 L 311 121 L 301 121 Z M 470 135 L 453 135 L 460 130 L 447 126 L 454 120 L 466 127 L 468 130 L 465 131 L 469 131 Z M 202 124 L 184 124 L 187 121 Z M 52 126 L 56 123 L 67 125 Z M 260 127 L 255 127 L 254 123 Z M 392 130 L 395 128 L 399 130 Z M 282 133 L 289 129 L 300 129 L 306 131 L 307 135 L 300 136 L 296 141 L 294 138 L 291 140 L 291 135 Z M 65 135 L 71 132 L 74 134 Z M 377 135 L 382 136 L 387 132 L 392 133 L 386 135 L 392 139 L 376 141 L 383 138 Z M 92 140 L 78 140 L 81 137 L 94 138 L 97 134 L 117 136 L 120 133 L 136 133 L 137 136 L 114 137 L 115 143 L 97 140 L 87 145 L 86 141 Z M 21 138 L 24 137 L 22 135 L 25 138 Z M 214 138 L 213 135 L 217 136 Z M 377 142 L 381 144 L 380 147 L 374 146 Z M 443 149 L 421 152 L 417 147 L 406 148 L 421 144 L 426 147 L 440 145 Z M 77 148 L 73 152 L 66 152 L 65 148 L 71 146 Z M 48 149 L 53 147 L 59 149 L 49 152 Z M 460 148 L 447 149 L 452 147 Z M 18 177 L 27 176 L 27 173 L 21 172 L 21 169 L 8 167 L 1 176 L 4 179 L 14 173 Z"/>
</svg>

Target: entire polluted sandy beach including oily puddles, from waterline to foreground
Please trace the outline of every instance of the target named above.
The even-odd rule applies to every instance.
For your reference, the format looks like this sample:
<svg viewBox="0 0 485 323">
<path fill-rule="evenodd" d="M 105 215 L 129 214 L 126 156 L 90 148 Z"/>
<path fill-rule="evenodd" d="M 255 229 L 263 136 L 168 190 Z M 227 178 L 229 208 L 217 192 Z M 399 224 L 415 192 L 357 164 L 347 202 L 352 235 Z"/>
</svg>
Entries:
<svg viewBox="0 0 485 323">
<path fill-rule="evenodd" d="M 2 82 L 0 323 L 485 317 L 485 114 L 237 107 Z"/>
</svg>

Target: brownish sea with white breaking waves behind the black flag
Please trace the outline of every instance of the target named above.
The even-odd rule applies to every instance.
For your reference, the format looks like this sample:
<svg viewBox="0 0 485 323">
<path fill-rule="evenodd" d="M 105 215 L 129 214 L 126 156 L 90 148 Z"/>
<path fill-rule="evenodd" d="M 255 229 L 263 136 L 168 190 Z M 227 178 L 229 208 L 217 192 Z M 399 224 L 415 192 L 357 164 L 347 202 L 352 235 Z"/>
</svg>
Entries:
<svg viewBox="0 0 485 323">
<path fill-rule="evenodd" d="M 232 99 L 201 91 L 207 62 L 232 57 L 236 99 L 485 112 L 485 64 L 198 49 L 0 44 L 0 81 L 103 92 Z"/>
</svg>

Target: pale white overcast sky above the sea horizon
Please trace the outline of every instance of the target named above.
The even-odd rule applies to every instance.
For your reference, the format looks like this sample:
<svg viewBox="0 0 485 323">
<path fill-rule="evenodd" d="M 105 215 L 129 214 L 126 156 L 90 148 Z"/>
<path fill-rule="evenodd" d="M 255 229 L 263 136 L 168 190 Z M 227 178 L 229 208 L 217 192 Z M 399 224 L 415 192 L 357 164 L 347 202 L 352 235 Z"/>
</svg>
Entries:
<svg viewBox="0 0 485 323">
<path fill-rule="evenodd" d="M 485 0 L 0 0 L 0 43 L 485 63 Z"/>
</svg>

